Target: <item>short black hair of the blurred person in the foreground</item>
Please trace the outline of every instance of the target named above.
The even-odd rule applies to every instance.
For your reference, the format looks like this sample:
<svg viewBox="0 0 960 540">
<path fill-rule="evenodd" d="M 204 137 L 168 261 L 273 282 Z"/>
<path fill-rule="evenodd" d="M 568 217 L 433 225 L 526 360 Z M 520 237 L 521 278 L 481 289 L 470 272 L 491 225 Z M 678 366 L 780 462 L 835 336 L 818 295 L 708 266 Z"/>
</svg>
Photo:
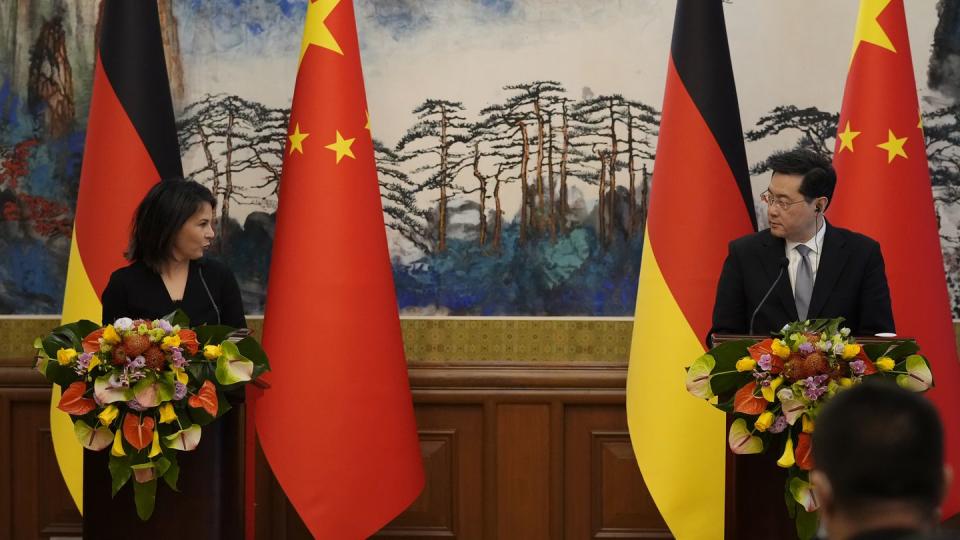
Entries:
<svg viewBox="0 0 960 540">
<path fill-rule="evenodd" d="M 896 501 L 931 516 L 943 496 L 940 417 L 926 398 L 889 381 L 843 390 L 823 407 L 813 459 L 837 509 L 853 515 Z"/>
</svg>

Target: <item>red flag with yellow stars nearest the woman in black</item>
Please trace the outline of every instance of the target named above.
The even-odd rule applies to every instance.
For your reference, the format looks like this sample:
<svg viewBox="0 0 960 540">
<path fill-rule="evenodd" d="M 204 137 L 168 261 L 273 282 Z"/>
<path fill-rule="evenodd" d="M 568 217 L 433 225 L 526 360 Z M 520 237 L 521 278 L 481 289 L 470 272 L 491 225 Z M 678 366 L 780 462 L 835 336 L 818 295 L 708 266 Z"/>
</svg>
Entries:
<svg viewBox="0 0 960 540">
<path fill-rule="evenodd" d="M 350 0 L 307 7 L 280 182 L 260 443 L 316 538 L 366 538 L 423 487 Z"/>
</svg>

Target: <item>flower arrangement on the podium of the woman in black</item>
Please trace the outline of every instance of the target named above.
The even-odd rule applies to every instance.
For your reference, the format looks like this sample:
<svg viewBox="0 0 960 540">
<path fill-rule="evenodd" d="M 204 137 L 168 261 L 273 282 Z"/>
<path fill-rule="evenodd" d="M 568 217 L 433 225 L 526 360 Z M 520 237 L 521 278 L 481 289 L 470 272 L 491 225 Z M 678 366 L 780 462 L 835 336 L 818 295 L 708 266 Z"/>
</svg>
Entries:
<svg viewBox="0 0 960 540">
<path fill-rule="evenodd" d="M 249 330 L 189 324 L 182 311 L 104 327 L 82 320 L 34 341 L 37 369 L 63 388 L 57 408 L 84 448 L 110 448 L 113 496 L 134 479 L 142 520 L 158 479 L 176 490 L 177 452 L 195 449 L 202 426 L 230 410 L 224 391 L 270 369 Z"/>
</svg>

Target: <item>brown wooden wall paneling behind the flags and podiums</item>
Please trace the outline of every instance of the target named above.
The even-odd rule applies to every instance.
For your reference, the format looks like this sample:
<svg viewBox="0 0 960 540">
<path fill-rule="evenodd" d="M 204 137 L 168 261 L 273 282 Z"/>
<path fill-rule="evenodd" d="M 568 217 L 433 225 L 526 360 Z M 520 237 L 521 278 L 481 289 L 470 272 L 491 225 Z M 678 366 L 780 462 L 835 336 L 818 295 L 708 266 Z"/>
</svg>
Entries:
<svg viewBox="0 0 960 540">
<path fill-rule="evenodd" d="M 0 538 L 79 537 L 49 386 L 0 368 Z M 376 537 L 671 538 L 633 458 L 623 365 L 411 364 L 426 487 Z M 256 537 L 310 538 L 257 460 Z"/>
</svg>

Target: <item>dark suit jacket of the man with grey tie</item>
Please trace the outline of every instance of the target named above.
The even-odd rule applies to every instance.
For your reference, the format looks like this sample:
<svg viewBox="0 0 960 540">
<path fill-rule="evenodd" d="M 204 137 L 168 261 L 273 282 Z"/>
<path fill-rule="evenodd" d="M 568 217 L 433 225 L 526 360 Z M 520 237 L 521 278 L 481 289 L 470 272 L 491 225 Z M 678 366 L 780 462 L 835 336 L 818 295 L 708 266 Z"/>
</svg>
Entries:
<svg viewBox="0 0 960 540">
<path fill-rule="evenodd" d="M 748 332 L 750 315 L 780 271 L 784 246 L 784 239 L 773 236 L 769 229 L 730 242 L 717 284 L 710 335 Z M 880 244 L 862 234 L 828 225 L 807 317 L 843 317 L 844 326 L 857 336 L 893 332 L 890 290 Z M 784 270 L 776 289 L 757 313 L 753 333 L 769 334 L 798 318 L 790 276 Z"/>
</svg>

